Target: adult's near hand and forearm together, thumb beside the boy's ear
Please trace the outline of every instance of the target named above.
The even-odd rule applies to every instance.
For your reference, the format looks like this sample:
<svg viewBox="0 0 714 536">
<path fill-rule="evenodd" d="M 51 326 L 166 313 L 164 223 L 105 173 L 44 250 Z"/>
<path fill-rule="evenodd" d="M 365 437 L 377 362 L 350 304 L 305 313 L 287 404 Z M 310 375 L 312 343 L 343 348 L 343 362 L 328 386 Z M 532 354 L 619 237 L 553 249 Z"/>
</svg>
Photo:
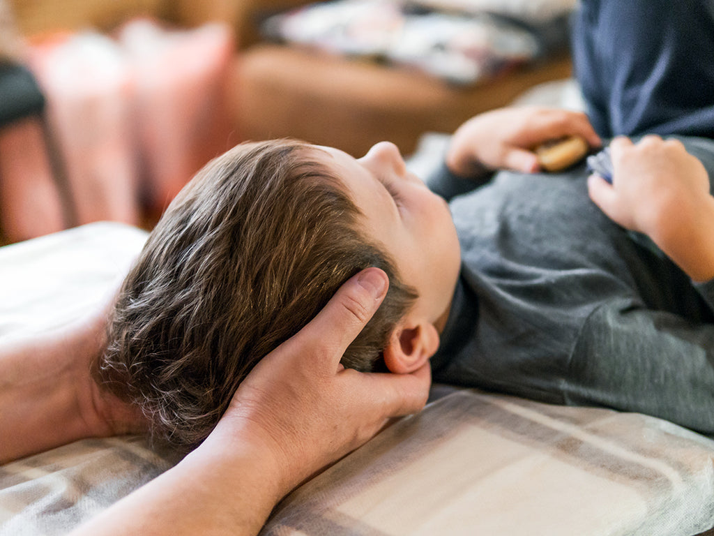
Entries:
<svg viewBox="0 0 714 536">
<path fill-rule="evenodd" d="M 428 363 L 411 374 L 340 364 L 387 287 L 376 268 L 349 279 L 256 365 L 196 450 L 73 534 L 256 534 L 293 487 L 363 445 L 392 417 L 421 410 Z"/>
</svg>

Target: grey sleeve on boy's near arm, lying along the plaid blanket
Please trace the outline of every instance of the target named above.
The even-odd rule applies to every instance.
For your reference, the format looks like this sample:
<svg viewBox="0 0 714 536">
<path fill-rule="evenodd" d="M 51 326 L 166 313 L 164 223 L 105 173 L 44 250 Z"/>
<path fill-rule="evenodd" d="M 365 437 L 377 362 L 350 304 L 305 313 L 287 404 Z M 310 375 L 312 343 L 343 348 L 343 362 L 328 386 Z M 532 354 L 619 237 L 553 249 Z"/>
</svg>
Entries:
<svg viewBox="0 0 714 536">
<path fill-rule="evenodd" d="M 709 295 L 714 286 L 709 287 Z M 570 405 L 640 412 L 714 435 L 714 325 L 618 297 L 583 325 L 563 379 Z"/>
</svg>

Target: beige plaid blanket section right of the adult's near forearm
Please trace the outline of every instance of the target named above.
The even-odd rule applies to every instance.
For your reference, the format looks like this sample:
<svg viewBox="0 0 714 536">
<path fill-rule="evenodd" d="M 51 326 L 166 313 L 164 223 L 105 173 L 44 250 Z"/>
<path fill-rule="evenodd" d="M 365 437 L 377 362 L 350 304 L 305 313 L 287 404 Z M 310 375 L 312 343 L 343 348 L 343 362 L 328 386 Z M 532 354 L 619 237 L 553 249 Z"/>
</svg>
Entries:
<svg viewBox="0 0 714 536">
<path fill-rule="evenodd" d="M 668 422 L 460 391 L 288 497 L 264 535 L 685 536 L 714 442 Z"/>
</svg>

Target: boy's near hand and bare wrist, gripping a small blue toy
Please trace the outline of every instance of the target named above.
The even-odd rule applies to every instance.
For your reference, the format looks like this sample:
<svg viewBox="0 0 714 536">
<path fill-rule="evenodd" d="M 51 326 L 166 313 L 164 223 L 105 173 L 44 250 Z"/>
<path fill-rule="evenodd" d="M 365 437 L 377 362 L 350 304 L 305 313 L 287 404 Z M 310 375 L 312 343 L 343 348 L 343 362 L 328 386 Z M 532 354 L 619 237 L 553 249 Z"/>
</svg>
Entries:
<svg viewBox="0 0 714 536">
<path fill-rule="evenodd" d="M 702 163 L 676 139 L 610 144 L 613 184 L 592 175 L 590 199 L 614 222 L 647 234 L 690 277 L 714 276 L 714 198 Z M 710 260 L 712 257 L 712 260 Z"/>
</svg>

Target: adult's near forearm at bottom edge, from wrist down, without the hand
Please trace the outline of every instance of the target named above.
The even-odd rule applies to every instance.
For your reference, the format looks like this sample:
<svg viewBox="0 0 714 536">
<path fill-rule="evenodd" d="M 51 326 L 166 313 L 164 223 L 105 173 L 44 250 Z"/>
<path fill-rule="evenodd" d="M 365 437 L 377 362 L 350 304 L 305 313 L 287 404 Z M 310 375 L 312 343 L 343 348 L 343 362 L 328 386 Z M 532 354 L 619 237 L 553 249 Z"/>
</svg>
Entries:
<svg viewBox="0 0 714 536">
<path fill-rule="evenodd" d="M 289 491 L 279 474 L 251 445 L 204 444 L 71 536 L 255 535 Z"/>
</svg>

